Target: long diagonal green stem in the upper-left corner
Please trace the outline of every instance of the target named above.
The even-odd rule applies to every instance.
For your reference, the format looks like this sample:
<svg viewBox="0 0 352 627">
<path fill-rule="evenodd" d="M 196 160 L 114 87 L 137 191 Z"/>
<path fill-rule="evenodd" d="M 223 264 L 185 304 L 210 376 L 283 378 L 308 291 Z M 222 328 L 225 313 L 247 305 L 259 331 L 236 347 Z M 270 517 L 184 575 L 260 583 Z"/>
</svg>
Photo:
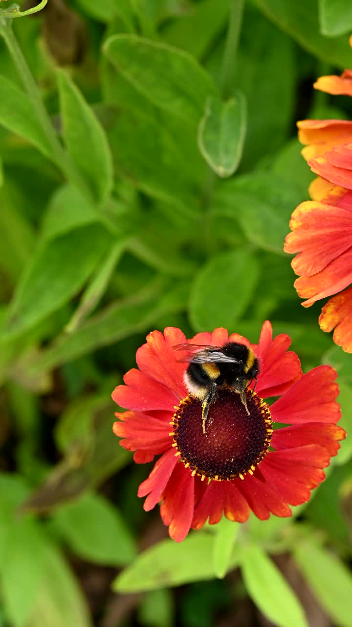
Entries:
<svg viewBox="0 0 352 627">
<path fill-rule="evenodd" d="M 21 48 L 18 45 L 18 41 L 11 29 L 11 24 L 8 19 L 2 17 L 0 17 L 0 34 L 3 36 L 6 46 L 8 46 L 9 53 L 13 58 L 14 65 L 16 65 L 19 75 L 21 76 L 24 88 L 28 93 L 29 98 L 31 98 L 38 120 L 50 144 L 53 161 L 56 163 L 56 166 L 60 168 L 61 172 L 63 172 L 68 181 L 81 189 L 87 198 L 92 199 L 90 189 L 81 178 L 79 172 L 77 172 L 74 164 L 71 162 L 70 156 L 60 144 L 60 140 L 56 135 L 46 108 L 41 100 L 41 95 L 36 82 L 34 81 L 31 70 L 29 70 L 26 59 L 24 58 Z"/>
</svg>

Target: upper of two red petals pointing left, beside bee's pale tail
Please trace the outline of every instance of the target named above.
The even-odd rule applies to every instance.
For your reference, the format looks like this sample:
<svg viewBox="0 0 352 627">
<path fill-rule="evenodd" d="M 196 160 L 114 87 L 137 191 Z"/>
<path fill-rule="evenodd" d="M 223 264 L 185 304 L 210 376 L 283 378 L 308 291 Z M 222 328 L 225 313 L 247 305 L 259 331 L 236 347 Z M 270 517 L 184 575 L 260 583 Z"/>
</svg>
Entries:
<svg viewBox="0 0 352 627">
<path fill-rule="evenodd" d="M 127 409 L 150 411 L 166 409 L 172 411 L 179 404 L 179 398 L 170 388 L 162 386 L 136 368 L 123 377 L 125 386 L 117 386 L 111 394 L 115 403 Z"/>
</svg>

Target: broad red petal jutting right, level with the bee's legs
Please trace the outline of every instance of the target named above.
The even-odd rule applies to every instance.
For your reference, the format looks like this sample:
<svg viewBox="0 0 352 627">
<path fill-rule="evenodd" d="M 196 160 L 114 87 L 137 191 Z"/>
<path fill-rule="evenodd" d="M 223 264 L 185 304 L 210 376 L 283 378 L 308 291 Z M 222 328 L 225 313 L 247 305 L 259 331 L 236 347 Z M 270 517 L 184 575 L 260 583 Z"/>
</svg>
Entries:
<svg viewBox="0 0 352 627">
<path fill-rule="evenodd" d="M 271 405 L 272 420 L 288 424 L 337 423 L 341 412 L 334 400 L 339 394 L 336 377 L 331 366 L 318 366 L 304 374 Z"/>
</svg>

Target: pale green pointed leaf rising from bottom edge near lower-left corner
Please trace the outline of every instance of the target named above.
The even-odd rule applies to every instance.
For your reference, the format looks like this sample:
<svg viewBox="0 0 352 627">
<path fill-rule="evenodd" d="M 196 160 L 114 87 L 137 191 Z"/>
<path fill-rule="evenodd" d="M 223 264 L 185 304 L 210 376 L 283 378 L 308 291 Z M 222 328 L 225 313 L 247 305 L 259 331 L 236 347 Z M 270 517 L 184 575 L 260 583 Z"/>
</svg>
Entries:
<svg viewBox="0 0 352 627">
<path fill-rule="evenodd" d="M 60 552 L 46 543 L 44 557 L 44 576 L 26 627 L 93 627 L 81 587 Z"/>
</svg>

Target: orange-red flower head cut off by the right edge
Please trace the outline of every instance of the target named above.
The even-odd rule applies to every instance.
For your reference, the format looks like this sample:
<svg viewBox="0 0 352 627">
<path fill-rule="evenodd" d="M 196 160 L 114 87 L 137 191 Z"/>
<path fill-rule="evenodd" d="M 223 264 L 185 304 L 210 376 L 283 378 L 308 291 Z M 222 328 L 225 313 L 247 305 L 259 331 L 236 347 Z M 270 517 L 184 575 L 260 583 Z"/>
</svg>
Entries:
<svg viewBox="0 0 352 627">
<path fill-rule="evenodd" d="M 351 96 L 352 70 L 321 76 L 314 87 Z M 303 120 L 298 128 L 306 144 L 302 154 L 319 176 L 309 187 L 313 200 L 292 213 L 284 250 L 298 253 L 292 268 L 304 307 L 336 294 L 324 305 L 319 325 L 323 331 L 335 329 L 334 342 L 352 352 L 352 122 Z"/>
</svg>

